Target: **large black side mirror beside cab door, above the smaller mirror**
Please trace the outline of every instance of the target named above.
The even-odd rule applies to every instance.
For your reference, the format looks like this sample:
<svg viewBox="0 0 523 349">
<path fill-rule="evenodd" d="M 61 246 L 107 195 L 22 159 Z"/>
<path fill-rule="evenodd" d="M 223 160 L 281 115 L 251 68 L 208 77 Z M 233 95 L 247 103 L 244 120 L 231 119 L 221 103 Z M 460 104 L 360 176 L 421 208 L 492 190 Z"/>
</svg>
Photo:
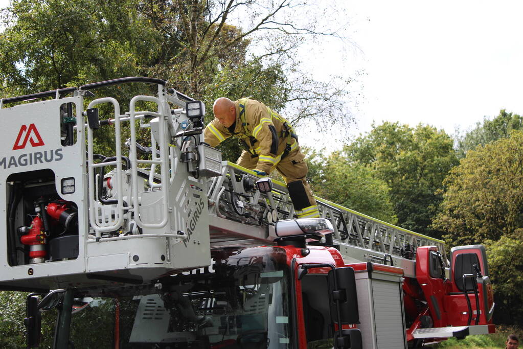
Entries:
<svg viewBox="0 0 523 349">
<path fill-rule="evenodd" d="M 335 287 L 334 273 L 338 288 Z M 339 311 L 342 324 L 359 323 L 358 298 L 354 269 L 350 266 L 339 267 L 328 272 L 329 298 L 331 300 L 331 319 L 338 323 L 336 300 L 339 300 Z M 338 324 L 339 325 L 339 324 Z"/>
</svg>

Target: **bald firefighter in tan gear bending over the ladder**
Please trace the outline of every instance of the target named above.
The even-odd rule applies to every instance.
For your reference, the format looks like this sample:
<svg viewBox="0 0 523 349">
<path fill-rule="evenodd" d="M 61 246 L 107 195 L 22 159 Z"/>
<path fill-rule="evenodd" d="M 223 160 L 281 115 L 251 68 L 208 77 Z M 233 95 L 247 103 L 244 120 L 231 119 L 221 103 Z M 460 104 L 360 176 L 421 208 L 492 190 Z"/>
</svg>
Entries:
<svg viewBox="0 0 523 349">
<path fill-rule="evenodd" d="M 289 122 L 265 104 L 247 98 L 231 101 L 221 97 L 212 106 L 214 120 L 204 132 L 212 147 L 235 136 L 244 145 L 237 165 L 260 176 L 277 169 L 287 183 L 298 218 L 319 217 L 316 201 L 305 180 L 308 168 L 300 151 L 298 137 Z"/>
</svg>

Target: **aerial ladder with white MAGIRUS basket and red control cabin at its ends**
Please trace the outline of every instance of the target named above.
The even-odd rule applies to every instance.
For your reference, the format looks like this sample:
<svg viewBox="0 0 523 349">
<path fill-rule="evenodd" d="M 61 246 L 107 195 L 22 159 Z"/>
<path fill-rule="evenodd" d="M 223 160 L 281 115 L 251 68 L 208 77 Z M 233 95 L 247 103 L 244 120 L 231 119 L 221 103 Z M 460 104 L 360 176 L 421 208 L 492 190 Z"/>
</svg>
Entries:
<svg viewBox="0 0 523 349">
<path fill-rule="evenodd" d="M 92 92 L 124 83 L 155 94 L 122 106 Z M 278 222 L 295 217 L 285 183 L 222 161 L 203 143 L 204 113 L 202 102 L 144 77 L 0 99 L 0 287 L 143 285 L 209 266 L 213 250 L 277 245 Z M 98 154 L 108 127 L 113 153 Z M 449 262 L 444 241 L 315 199 L 332 232 L 310 246 L 335 248 L 369 275 L 372 265 L 401 274 L 408 341 L 493 331 L 482 246 L 454 248 Z"/>
</svg>

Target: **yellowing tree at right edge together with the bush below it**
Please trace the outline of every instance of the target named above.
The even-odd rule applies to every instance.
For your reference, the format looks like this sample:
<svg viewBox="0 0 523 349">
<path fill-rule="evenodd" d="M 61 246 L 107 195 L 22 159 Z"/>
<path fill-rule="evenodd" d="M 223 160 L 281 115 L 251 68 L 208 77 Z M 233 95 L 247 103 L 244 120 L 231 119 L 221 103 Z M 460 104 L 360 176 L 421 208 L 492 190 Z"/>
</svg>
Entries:
<svg viewBox="0 0 523 349">
<path fill-rule="evenodd" d="M 484 243 L 497 323 L 523 318 L 523 131 L 469 150 L 444 182 L 434 219 L 450 246 Z"/>
</svg>

